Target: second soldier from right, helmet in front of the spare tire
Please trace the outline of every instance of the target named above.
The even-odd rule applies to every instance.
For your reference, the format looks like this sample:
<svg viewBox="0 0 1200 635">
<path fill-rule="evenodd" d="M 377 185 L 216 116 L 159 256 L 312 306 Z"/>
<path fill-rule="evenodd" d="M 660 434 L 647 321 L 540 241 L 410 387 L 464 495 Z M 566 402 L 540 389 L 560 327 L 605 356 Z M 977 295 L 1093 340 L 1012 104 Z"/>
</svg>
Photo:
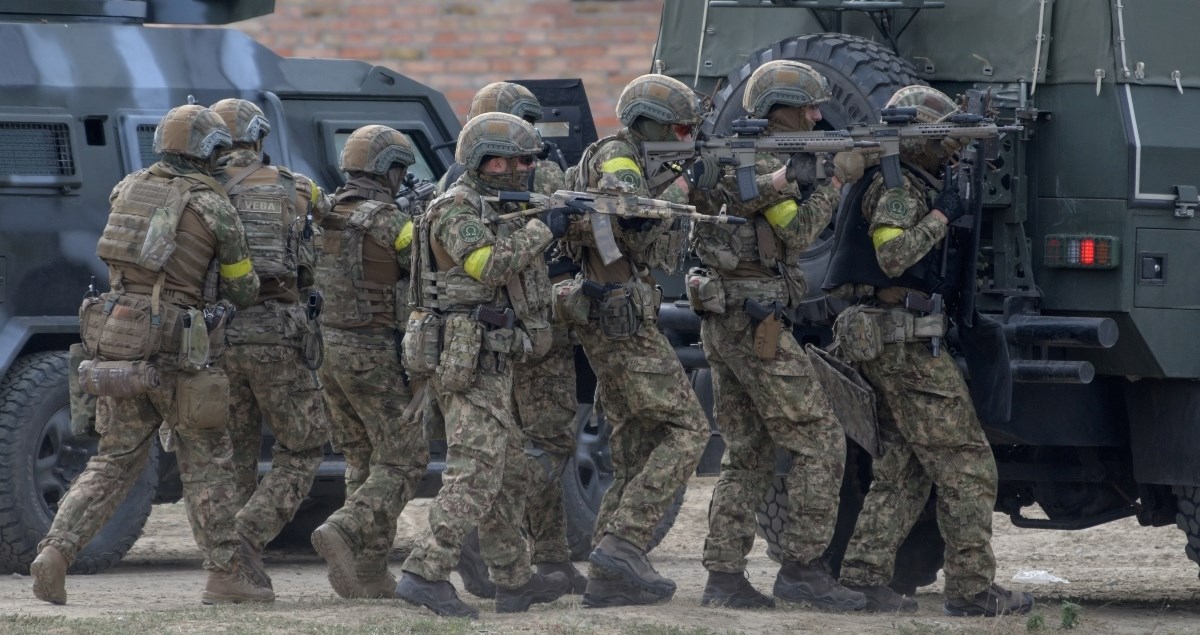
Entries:
<svg viewBox="0 0 1200 635">
<path fill-rule="evenodd" d="M 811 66 L 776 60 L 750 76 L 743 106 L 769 121 L 767 134 L 808 132 L 822 119 L 827 100 L 828 83 Z M 812 155 L 798 155 L 793 179 L 796 168 L 811 161 Z M 725 439 L 721 477 L 708 509 L 704 606 L 775 605 L 750 585 L 745 557 L 754 545 L 755 509 L 775 474 L 776 447 L 792 455 L 792 495 L 774 595 L 835 610 L 866 604 L 862 593 L 839 585 L 821 564 L 838 520 L 846 439 L 809 357 L 780 323 L 781 311 L 799 306 L 806 290 L 799 256 L 829 223 L 842 182 L 862 175 L 862 156 L 842 152 L 835 166 L 830 182 L 808 198 L 797 185 L 787 185 L 786 198 L 761 197 L 744 211 L 730 208 L 749 218 L 745 224 L 696 223 L 692 229 L 692 248 L 708 269 L 689 274 L 688 290 L 702 312 L 701 342 Z M 774 155 L 757 156 L 758 175 L 781 168 Z M 799 180 L 812 185 L 811 178 Z M 730 176 L 721 188 L 737 192 L 737 184 Z M 698 210 L 715 214 L 719 208 L 706 204 L 710 198 L 692 192 Z"/>
</svg>

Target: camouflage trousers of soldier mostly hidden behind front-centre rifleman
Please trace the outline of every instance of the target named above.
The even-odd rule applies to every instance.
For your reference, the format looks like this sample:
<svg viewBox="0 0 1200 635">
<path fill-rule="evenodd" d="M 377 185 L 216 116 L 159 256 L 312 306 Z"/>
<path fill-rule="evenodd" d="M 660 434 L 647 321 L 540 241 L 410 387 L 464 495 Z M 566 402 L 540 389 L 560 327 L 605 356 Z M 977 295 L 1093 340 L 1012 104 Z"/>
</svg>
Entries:
<svg viewBox="0 0 1200 635">
<path fill-rule="evenodd" d="M 554 327 L 554 346 L 533 364 L 512 367 L 514 399 L 521 430 L 534 460 L 535 480 L 526 501 L 526 529 L 533 541 L 533 562 L 566 562 L 566 510 L 563 468 L 575 453 L 575 347 L 566 329 Z"/>
</svg>

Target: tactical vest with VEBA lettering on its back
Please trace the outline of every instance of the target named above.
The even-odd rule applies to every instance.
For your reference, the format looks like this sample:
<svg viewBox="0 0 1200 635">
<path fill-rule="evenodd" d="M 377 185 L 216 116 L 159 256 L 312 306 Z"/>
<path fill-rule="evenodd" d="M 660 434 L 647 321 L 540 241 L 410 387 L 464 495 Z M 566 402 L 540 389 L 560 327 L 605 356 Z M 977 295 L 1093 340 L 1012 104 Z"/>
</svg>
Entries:
<svg viewBox="0 0 1200 635">
<path fill-rule="evenodd" d="M 230 174 L 224 190 L 246 230 L 254 272 L 264 284 L 274 280 L 278 284 L 290 282 L 295 286 L 304 222 L 295 206 L 295 176 L 286 168 L 263 163 L 252 163 Z"/>
</svg>

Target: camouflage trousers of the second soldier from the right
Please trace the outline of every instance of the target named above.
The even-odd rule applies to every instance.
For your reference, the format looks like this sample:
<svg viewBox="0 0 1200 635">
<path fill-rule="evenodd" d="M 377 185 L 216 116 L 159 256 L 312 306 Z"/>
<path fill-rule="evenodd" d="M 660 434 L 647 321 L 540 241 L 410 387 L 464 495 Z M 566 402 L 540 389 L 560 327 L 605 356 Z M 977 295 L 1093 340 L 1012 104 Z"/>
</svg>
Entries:
<svg viewBox="0 0 1200 635">
<path fill-rule="evenodd" d="M 790 331 L 774 360 L 754 352 L 754 324 L 738 308 L 706 314 L 704 357 L 713 370 L 714 414 L 725 439 L 721 475 L 708 508 L 704 568 L 742 573 L 754 546 L 755 511 L 775 475 L 775 449 L 792 455 L 782 559 L 821 557 L 838 521 L 846 437 L 812 363 Z"/>
</svg>

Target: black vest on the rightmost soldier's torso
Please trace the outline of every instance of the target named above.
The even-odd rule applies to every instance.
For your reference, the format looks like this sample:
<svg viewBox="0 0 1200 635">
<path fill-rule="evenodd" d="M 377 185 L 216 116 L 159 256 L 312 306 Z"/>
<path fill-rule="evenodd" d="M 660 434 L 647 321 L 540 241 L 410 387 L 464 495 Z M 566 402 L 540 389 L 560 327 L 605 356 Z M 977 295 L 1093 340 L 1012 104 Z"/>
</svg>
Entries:
<svg viewBox="0 0 1200 635">
<path fill-rule="evenodd" d="M 875 244 L 871 242 L 870 211 L 864 208 L 864 203 L 874 205 L 883 194 L 883 178 L 880 175 L 876 179 L 878 173 L 878 167 L 868 169 L 854 184 L 850 194 L 841 199 L 834 228 L 833 252 L 821 288 L 828 292 L 841 284 L 853 283 L 870 284 L 875 288 L 907 287 L 925 293 L 940 292 L 942 287 L 937 275 L 940 268 L 934 262 L 940 257 L 940 250 L 930 250 L 917 264 L 898 277 L 888 277 L 880 268 Z M 919 170 L 906 169 L 904 174 L 907 179 L 916 179 L 924 191 L 932 187 Z"/>
</svg>

